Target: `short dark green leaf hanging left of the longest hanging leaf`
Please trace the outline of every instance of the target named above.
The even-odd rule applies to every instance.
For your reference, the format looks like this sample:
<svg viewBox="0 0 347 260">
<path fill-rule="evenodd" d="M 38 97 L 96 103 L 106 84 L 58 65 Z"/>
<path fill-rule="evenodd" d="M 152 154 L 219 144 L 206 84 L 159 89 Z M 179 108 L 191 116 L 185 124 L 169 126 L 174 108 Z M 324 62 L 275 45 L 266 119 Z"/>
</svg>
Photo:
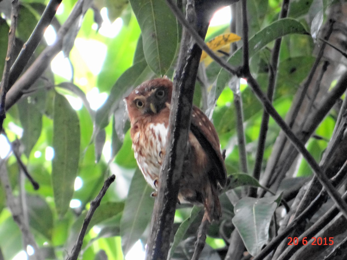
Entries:
<svg viewBox="0 0 347 260">
<path fill-rule="evenodd" d="M 42 129 L 42 114 L 36 105 L 29 101 L 29 98 L 22 98 L 18 102 L 19 120 L 23 128 L 21 141 L 27 158 L 39 139 Z"/>
</svg>

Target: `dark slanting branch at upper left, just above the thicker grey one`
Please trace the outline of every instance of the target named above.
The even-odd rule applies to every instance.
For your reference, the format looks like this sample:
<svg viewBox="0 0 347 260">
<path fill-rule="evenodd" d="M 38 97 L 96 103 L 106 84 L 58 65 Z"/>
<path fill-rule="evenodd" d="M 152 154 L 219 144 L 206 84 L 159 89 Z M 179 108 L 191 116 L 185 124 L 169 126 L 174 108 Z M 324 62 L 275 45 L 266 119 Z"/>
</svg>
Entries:
<svg viewBox="0 0 347 260">
<path fill-rule="evenodd" d="M 43 34 L 47 26 L 50 25 L 54 15 L 62 0 L 50 0 L 46 6 L 43 14 L 38 21 L 34 31 L 30 35 L 26 43 L 24 43 L 22 50 L 20 51 L 16 61 L 13 63 L 10 71 L 8 89 L 15 83 L 20 74 L 23 72 L 26 64 L 33 55 L 36 47 L 39 45 L 43 38 Z"/>
</svg>

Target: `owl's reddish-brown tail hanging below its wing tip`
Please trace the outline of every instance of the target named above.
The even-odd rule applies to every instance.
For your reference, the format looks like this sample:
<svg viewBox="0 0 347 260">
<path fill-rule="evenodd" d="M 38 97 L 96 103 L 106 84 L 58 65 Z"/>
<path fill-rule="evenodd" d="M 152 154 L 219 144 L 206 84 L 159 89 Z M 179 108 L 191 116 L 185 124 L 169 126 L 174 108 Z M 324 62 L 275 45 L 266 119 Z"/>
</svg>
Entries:
<svg viewBox="0 0 347 260">
<path fill-rule="evenodd" d="M 222 216 L 222 209 L 218 198 L 218 190 L 214 185 L 208 185 L 208 188 L 206 189 L 204 206 L 204 218 L 207 218 L 210 223 L 213 220 L 219 220 L 219 218 Z"/>
</svg>

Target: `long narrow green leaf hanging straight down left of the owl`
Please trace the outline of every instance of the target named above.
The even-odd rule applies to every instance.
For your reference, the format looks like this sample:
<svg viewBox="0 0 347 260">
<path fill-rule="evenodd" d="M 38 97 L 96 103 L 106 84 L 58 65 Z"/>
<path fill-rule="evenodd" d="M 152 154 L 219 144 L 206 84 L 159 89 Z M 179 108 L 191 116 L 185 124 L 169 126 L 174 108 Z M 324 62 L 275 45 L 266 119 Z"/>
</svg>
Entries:
<svg viewBox="0 0 347 260">
<path fill-rule="evenodd" d="M 79 119 L 66 98 L 56 93 L 53 109 L 52 184 L 60 217 L 69 208 L 79 162 Z"/>
</svg>

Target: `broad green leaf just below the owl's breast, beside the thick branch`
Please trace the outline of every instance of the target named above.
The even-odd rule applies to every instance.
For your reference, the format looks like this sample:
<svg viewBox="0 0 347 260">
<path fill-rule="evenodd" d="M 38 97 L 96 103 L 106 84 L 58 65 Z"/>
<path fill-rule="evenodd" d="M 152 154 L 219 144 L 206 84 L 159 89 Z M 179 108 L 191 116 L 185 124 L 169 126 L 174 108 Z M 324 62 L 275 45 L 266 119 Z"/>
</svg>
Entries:
<svg viewBox="0 0 347 260">
<path fill-rule="evenodd" d="M 154 199 L 153 190 L 137 170 L 130 184 L 124 212 L 120 220 L 120 234 L 124 255 L 132 248 L 151 221 Z"/>
</svg>

